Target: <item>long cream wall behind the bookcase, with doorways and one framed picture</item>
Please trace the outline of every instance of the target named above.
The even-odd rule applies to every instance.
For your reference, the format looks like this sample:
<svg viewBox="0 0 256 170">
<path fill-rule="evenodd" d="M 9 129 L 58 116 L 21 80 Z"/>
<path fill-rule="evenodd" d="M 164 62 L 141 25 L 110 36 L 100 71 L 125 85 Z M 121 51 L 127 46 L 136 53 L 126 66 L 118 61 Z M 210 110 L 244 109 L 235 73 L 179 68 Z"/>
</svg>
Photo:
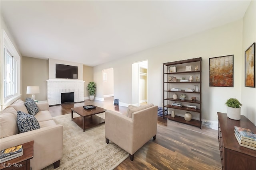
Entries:
<svg viewBox="0 0 256 170">
<path fill-rule="evenodd" d="M 101 71 L 114 68 L 114 96 L 132 104 L 132 64 L 148 60 L 148 103 L 162 106 L 162 63 L 202 57 L 202 117 L 217 121 L 226 112 L 230 97 L 241 100 L 242 20 L 178 39 L 119 60 L 94 67 L 94 81 L 101 87 Z M 234 87 L 209 87 L 209 58 L 234 54 Z M 125 71 L 124 71 L 125 70 Z M 223 95 L 225 94 L 225 95 Z M 102 98 L 98 89 L 96 97 Z"/>
</svg>

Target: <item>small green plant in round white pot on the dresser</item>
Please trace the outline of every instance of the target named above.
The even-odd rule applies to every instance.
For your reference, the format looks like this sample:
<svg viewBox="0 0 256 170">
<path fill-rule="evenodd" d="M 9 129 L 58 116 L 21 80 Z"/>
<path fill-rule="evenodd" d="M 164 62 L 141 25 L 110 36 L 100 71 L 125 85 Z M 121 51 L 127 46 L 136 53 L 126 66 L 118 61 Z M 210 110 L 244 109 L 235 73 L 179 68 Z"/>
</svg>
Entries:
<svg viewBox="0 0 256 170">
<path fill-rule="evenodd" d="M 227 116 L 230 119 L 240 120 L 242 104 L 236 98 L 228 99 L 225 104 L 227 105 Z"/>
</svg>

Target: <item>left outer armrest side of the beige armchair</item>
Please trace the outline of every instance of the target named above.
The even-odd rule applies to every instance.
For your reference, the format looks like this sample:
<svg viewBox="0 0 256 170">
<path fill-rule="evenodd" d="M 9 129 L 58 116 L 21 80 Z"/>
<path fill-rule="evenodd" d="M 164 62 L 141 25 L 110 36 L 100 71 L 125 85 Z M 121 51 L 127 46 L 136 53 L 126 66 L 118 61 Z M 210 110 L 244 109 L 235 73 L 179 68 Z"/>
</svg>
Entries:
<svg viewBox="0 0 256 170">
<path fill-rule="evenodd" d="M 129 152 L 133 141 L 134 122 L 116 111 L 105 112 L 105 137 Z"/>
</svg>

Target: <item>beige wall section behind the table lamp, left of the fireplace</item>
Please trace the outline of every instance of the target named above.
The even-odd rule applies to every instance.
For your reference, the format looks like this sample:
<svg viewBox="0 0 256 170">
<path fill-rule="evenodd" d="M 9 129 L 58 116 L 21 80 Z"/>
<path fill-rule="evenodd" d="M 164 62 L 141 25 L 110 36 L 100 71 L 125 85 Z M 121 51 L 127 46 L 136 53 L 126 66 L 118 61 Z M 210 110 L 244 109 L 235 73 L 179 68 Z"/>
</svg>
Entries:
<svg viewBox="0 0 256 170">
<path fill-rule="evenodd" d="M 36 100 L 47 100 L 46 80 L 49 79 L 48 65 L 48 60 L 22 57 L 22 100 L 32 96 L 31 94 L 26 94 L 27 86 L 39 86 L 40 93 L 35 94 Z"/>
</svg>

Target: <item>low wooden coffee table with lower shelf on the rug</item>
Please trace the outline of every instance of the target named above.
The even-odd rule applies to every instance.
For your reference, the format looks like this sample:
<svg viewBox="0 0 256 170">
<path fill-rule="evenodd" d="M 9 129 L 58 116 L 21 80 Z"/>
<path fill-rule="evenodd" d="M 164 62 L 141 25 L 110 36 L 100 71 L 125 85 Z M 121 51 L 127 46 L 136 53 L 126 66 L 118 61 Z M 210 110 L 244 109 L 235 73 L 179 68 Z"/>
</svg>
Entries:
<svg viewBox="0 0 256 170">
<path fill-rule="evenodd" d="M 79 127 L 83 130 L 89 129 L 100 123 L 104 123 L 105 119 L 102 119 L 99 116 L 96 116 L 98 113 L 105 112 L 106 109 L 97 107 L 95 109 L 84 109 L 84 107 L 74 107 L 71 108 L 71 120 L 74 121 Z M 76 112 L 80 117 L 73 117 L 74 112 Z"/>
</svg>

